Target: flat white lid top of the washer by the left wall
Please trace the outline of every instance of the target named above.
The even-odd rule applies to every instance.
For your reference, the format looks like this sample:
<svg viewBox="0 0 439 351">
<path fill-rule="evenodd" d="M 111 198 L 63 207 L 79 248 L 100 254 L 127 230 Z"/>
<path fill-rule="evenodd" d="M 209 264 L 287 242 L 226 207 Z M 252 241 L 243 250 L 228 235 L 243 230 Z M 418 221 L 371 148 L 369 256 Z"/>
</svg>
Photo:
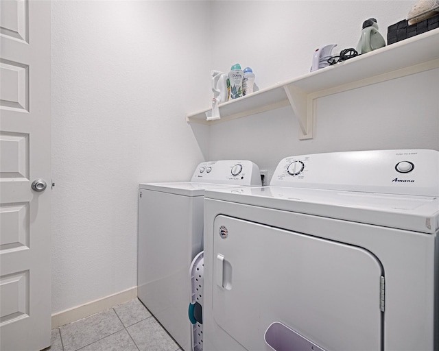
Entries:
<svg viewBox="0 0 439 351">
<path fill-rule="evenodd" d="M 169 182 L 169 183 L 143 183 L 139 184 L 139 189 L 160 191 L 161 193 L 171 193 L 183 196 L 204 196 L 206 189 L 232 188 L 233 184 L 212 184 L 195 182 Z"/>
</svg>

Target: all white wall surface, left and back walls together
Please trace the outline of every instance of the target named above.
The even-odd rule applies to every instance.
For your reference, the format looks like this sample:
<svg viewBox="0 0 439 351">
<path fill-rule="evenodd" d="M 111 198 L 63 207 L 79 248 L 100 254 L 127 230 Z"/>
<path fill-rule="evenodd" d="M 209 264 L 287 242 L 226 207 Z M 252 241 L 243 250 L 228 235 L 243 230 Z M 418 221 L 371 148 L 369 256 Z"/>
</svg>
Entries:
<svg viewBox="0 0 439 351">
<path fill-rule="evenodd" d="M 211 69 L 252 66 L 260 88 L 309 71 L 313 51 L 355 47 L 415 1 L 52 3 L 53 313 L 137 285 L 137 186 L 185 180 L 205 158 L 274 170 L 292 154 L 439 149 L 438 70 L 318 99 L 315 138 L 291 108 L 206 128 Z"/>
</svg>

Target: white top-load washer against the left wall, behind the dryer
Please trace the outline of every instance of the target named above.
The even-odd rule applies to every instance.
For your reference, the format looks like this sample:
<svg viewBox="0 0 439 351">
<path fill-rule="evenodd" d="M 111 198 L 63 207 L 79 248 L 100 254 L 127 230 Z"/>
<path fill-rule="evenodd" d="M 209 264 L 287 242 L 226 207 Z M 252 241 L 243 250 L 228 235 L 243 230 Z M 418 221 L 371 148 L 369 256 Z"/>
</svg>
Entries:
<svg viewBox="0 0 439 351">
<path fill-rule="evenodd" d="M 202 251 L 206 189 L 260 186 L 248 160 L 202 162 L 190 182 L 139 184 L 139 299 L 186 351 L 191 350 L 189 267 Z"/>
</svg>

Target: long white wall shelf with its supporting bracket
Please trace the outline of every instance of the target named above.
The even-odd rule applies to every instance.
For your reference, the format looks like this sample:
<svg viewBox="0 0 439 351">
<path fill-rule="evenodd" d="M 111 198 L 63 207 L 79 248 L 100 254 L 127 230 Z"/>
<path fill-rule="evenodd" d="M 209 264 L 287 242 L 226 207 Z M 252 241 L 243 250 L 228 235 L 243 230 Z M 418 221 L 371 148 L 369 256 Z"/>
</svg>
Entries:
<svg viewBox="0 0 439 351">
<path fill-rule="evenodd" d="M 313 137 L 315 99 L 439 67 L 439 29 L 419 34 L 333 66 L 307 73 L 219 105 L 221 119 L 206 121 L 210 108 L 189 114 L 189 123 L 214 124 L 291 105 L 299 138 Z"/>
</svg>

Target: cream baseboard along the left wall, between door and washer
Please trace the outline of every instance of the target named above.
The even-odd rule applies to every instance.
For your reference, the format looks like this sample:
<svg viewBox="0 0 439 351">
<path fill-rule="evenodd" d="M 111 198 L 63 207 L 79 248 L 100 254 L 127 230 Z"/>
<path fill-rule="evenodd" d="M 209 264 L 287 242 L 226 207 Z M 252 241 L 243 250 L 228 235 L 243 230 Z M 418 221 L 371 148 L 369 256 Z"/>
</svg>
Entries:
<svg viewBox="0 0 439 351">
<path fill-rule="evenodd" d="M 67 323 L 76 322 L 82 318 L 88 317 L 89 315 L 94 315 L 95 313 L 104 311 L 107 308 L 116 306 L 117 304 L 123 304 L 134 298 L 137 298 L 137 287 L 132 287 L 131 289 L 106 296 L 105 298 L 54 313 L 54 315 L 52 315 L 52 329 L 58 328 Z"/>
</svg>

